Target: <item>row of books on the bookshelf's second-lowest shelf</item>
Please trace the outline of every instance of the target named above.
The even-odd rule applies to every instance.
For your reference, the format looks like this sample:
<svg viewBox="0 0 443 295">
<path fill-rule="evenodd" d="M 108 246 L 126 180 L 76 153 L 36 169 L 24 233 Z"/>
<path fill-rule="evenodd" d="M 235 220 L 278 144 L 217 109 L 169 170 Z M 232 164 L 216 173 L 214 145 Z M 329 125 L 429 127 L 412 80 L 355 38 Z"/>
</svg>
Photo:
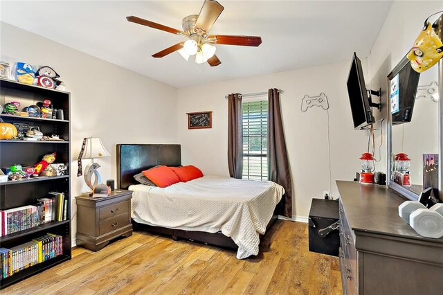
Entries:
<svg viewBox="0 0 443 295">
<path fill-rule="evenodd" d="M 67 220 L 68 197 L 51 192 L 37 199 L 37 205 L 21 206 L 0 211 L 0 236 L 31 229 L 40 224 Z"/>
</svg>

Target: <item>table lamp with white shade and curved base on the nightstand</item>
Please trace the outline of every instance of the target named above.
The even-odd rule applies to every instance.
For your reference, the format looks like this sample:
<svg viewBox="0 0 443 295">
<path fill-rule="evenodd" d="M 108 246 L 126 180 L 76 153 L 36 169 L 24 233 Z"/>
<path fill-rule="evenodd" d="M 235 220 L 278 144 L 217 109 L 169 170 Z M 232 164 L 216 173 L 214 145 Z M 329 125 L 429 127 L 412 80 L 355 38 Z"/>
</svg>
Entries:
<svg viewBox="0 0 443 295">
<path fill-rule="evenodd" d="M 78 155 L 79 161 L 79 173 L 78 176 L 82 175 L 81 161 L 84 159 L 91 159 L 91 163 L 89 163 L 84 168 L 84 182 L 86 182 L 87 186 L 93 189 L 97 184 L 102 183 L 102 178 L 100 177 L 100 173 L 98 173 L 98 168 L 100 165 L 94 162 L 95 158 L 109 157 L 111 154 L 105 149 L 100 138 L 97 137 L 87 137 L 83 139 L 82 150 Z M 92 184 L 92 175 L 95 175 L 94 182 Z"/>
</svg>

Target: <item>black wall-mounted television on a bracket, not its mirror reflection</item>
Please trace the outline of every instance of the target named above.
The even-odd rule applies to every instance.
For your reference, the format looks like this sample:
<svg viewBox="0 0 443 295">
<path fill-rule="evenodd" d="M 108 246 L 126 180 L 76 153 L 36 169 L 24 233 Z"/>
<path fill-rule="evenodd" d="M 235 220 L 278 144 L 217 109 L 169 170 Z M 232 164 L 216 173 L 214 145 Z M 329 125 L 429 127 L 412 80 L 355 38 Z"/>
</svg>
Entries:
<svg viewBox="0 0 443 295">
<path fill-rule="evenodd" d="M 374 123 L 371 99 L 365 86 L 361 61 L 356 53 L 353 55 L 351 69 L 347 78 L 347 93 L 351 104 L 354 129 L 364 129 L 364 127 Z"/>
</svg>

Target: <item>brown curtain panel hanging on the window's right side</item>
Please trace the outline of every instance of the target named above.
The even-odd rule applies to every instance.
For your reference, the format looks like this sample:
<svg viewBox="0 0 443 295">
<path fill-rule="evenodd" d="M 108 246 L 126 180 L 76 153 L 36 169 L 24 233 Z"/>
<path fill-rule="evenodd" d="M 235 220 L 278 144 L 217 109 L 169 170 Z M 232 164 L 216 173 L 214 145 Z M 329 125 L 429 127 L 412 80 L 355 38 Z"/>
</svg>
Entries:
<svg viewBox="0 0 443 295">
<path fill-rule="evenodd" d="M 280 93 L 278 89 L 268 91 L 268 177 L 269 180 L 284 188 L 282 201 L 277 205 L 276 212 L 292 217 L 292 181 L 289 170 L 288 152 L 280 111 Z"/>
</svg>

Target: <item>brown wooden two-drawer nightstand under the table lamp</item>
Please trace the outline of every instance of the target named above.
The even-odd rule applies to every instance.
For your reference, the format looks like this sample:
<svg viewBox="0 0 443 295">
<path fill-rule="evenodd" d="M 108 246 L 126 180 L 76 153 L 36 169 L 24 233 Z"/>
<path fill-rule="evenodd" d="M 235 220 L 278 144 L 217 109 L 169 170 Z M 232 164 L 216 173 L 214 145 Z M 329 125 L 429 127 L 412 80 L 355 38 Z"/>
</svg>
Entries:
<svg viewBox="0 0 443 295">
<path fill-rule="evenodd" d="M 110 240 L 132 235 L 129 190 L 114 190 L 108 197 L 77 196 L 77 245 L 98 251 Z"/>
</svg>

